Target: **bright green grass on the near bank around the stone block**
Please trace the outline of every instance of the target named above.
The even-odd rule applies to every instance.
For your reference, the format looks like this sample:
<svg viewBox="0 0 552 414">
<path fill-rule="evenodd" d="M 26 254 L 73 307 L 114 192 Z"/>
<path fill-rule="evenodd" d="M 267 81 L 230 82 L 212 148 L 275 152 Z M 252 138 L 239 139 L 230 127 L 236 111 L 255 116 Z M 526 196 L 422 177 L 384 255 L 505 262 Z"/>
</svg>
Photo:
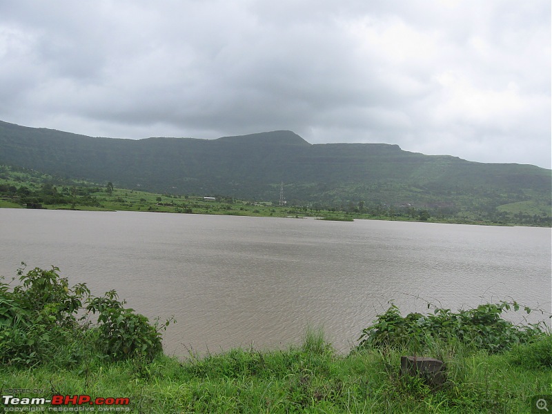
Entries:
<svg viewBox="0 0 552 414">
<path fill-rule="evenodd" d="M 237 348 L 151 363 L 91 356 L 72 368 L 3 366 L 0 382 L 44 390 L 28 397 L 129 397 L 132 413 L 526 413 L 533 395 L 552 394 L 552 364 L 544 363 L 551 350 L 550 336 L 500 355 L 440 344 L 431 351 L 446 362 L 448 380 L 432 389 L 400 375 L 408 350 L 338 355 L 321 329 L 309 329 L 283 351 Z"/>
</svg>

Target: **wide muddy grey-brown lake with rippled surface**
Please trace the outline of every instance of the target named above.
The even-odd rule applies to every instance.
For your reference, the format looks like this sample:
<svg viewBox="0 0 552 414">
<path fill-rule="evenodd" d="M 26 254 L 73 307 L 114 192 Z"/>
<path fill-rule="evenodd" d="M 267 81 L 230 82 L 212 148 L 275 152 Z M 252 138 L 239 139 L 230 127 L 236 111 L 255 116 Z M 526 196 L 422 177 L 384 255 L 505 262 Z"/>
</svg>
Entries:
<svg viewBox="0 0 552 414">
<path fill-rule="evenodd" d="M 0 223 L 0 275 L 58 266 L 150 319 L 175 315 L 170 355 L 281 348 L 306 326 L 346 352 L 391 300 L 551 311 L 550 228 L 7 208 Z"/>
</svg>

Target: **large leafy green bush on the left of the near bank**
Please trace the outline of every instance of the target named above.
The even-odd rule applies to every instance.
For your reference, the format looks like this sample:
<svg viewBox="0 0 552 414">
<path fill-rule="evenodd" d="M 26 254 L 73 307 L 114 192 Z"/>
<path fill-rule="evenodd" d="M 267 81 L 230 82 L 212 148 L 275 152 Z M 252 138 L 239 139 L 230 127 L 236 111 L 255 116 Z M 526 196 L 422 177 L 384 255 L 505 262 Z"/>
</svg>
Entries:
<svg viewBox="0 0 552 414">
<path fill-rule="evenodd" d="M 21 284 L 14 288 L 0 277 L 1 364 L 32 366 L 56 360 L 67 365 L 90 353 L 112 360 L 149 360 L 161 353 L 158 324 L 124 308 L 115 290 L 92 297 L 86 284 L 70 287 L 57 267 L 26 274 L 23 269 L 17 271 Z M 98 313 L 97 324 L 86 322 L 90 312 Z"/>
</svg>

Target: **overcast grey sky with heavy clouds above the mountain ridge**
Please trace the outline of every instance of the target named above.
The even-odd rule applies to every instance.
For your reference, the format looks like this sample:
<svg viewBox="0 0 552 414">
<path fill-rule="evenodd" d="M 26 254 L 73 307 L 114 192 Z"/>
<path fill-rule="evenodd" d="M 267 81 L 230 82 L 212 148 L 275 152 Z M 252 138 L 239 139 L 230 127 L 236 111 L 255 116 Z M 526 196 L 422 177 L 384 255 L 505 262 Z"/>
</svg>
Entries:
<svg viewBox="0 0 552 414">
<path fill-rule="evenodd" d="M 0 120 L 551 168 L 550 0 L 4 0 Z"/>
</svg>

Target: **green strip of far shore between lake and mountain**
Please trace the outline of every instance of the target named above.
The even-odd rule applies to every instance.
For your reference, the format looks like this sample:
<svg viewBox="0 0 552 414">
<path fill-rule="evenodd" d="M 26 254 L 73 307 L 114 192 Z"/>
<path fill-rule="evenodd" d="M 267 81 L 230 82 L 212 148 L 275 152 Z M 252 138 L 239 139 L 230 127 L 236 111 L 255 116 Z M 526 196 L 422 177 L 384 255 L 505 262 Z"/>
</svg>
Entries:
<svg viewBox="0 0 552 414">
<path fill-rule="evenodd" d="M 211 195 L 210 195 L 211 196 Z M 34 170 L 0 166 L 0 208 L 50 208 L 68 210 L 127 210 L 158 213 L 242 215 L 257 217 L 316 217 L 326 220 L 385 219 L 458 224 L 552 226 L 550 208 L 530 201 L 503 205 L 489 214 L 452 212 L 442 208 L 415 208 L 348 201 L 339 206 L 242 201 L 213 195 L 155 194 L 103 186 L 87 181 L 60 179 Z"/>
</svg>

